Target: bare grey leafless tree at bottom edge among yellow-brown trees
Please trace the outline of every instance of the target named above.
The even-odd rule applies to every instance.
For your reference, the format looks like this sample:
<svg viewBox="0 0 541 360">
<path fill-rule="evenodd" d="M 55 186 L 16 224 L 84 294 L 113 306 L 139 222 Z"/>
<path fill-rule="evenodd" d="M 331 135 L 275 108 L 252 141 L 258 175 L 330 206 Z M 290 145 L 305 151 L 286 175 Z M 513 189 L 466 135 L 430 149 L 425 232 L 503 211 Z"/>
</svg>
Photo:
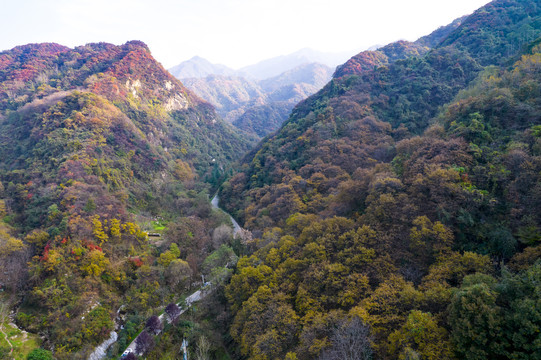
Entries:
<svg viewBox="0 0 541 360">
<path fill-rule="evenodd" d="M 331 335 L 331 346 L 320 360 L 369 360 L 372 358 L 370 328 L 355 316 L 342 321 Z"/>
</svg>

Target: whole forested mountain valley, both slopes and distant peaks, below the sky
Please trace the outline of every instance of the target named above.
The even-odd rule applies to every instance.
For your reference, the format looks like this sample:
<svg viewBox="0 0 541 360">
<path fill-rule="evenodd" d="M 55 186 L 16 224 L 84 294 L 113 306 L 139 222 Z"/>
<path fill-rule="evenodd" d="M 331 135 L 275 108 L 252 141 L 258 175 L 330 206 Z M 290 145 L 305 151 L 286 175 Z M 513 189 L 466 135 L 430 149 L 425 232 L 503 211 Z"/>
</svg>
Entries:
<svg viewBox="0 0 541 360">
<path fill-rule="evenodd" d="M 316 55 L 0 52 L 0 357 L 541 358 L 538 1 Z"/>
</svg>

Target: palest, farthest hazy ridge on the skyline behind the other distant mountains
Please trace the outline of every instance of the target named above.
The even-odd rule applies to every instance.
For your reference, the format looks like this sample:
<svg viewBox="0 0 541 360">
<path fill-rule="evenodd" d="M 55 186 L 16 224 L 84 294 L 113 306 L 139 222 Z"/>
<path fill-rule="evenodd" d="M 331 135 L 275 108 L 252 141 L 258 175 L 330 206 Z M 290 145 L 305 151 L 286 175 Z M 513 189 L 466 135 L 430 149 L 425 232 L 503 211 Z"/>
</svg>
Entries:
<svg viewBox="0 0 541 360">
<path fill-rule="evenodd" d="M 303 64 L 319 63 L 334 68 L 347 60 L 351 54 L 324 53 L 312 49 L 302 49 L 289 55 L 277 56 L 238 70 L 247 78 L 264 80 L 278 76 Z"/>
</svg>

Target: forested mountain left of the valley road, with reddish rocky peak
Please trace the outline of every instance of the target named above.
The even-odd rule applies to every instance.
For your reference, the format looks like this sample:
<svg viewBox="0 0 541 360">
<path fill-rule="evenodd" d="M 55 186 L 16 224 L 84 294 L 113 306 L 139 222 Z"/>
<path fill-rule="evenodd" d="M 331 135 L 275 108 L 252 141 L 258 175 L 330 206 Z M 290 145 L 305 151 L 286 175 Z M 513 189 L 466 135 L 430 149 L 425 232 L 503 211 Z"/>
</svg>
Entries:
<svg viewBox="0 0 541 360">
<path fill-rule="evenodd" d="M 126 341 L 199 277 L 228 222 L 208 194 L 249 136 L 139 41 L 18 46 L 0 84 L 2 290 L 55 358 L 87 358 L 121 305 Z"/>
</svg>

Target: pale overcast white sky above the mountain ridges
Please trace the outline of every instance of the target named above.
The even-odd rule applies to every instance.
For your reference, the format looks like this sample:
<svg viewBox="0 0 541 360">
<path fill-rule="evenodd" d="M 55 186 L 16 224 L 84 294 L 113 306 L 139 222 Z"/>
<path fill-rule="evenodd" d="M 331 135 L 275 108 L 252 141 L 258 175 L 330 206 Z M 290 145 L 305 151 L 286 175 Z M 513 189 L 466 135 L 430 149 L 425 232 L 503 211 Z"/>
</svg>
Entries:
<svg viewBox="0 0 541 360">
<path fill-rule="evenodd" d="M 0 50 L 142 40 L 169 68 L 195 55 L 232 68 L 302 48 L 416 40 L 488 0 L 0 0 Z"/>
</svg>

